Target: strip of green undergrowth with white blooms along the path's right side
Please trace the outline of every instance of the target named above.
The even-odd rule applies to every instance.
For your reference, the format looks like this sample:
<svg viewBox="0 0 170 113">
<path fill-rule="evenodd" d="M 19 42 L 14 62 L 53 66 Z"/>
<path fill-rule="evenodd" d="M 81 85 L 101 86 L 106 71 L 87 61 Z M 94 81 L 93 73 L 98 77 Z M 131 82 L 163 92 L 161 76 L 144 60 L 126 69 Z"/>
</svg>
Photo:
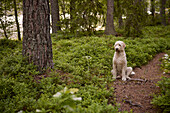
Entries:
<svg viewBox="0 0 170 113">
<path fill-rule="evenodd" d="M 160 108 L 163 113 L 170 112 L 170 77 L 168 75 L 170 74 L 169 52 L 170 51 L 167 51 L 168 54 L 165 54 L 161 59 L 161 70 L 163 71 L 163 74 L 167 74 L 167 76 L 163 77 L 162 80 L 157 83 L 161 92 L 156 94 L 151 102 L 153 105 Z"/>
</svg>

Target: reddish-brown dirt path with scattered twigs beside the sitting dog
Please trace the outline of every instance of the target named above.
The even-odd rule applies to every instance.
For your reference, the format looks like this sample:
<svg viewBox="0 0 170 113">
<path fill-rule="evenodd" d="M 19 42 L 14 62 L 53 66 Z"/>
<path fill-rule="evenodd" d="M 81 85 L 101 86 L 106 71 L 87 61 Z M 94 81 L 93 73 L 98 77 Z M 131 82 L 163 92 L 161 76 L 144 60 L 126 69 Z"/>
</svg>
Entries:
<svg viewBox="0 0 170 113">
<path fill-rule="evenodd" d="M 117 103 L 120 103 L 120 111 L 132 111 L 133 113 L 157 113 L 150 104 L 153 94 L 159 91 L 155 84 L 163 76 L 160 71 L 160 58 L 164 53 L 157 54 L 153 60 L 141 68 L 135 68 L 136 75 L 132 78 L 145 79 L 146 81 L 126 81 L 121 79 L 114 82 Z"/>
</svg>

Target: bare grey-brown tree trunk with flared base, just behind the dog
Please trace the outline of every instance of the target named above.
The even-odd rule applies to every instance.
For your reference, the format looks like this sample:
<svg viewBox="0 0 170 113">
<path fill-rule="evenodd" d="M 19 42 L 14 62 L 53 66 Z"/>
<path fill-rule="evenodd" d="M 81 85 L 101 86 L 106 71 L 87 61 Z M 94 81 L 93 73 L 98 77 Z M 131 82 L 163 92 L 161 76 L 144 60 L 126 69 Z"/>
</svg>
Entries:
<svg viewBox="0 0 170 113">
<path fill-rule="evenodd" d="M 113 20 L 113 9 L 114 9 L 114 0 L 107 0 L 107 15 L 106 15 L 106 35 L 116 35 L 116 31 L 114 28 L 114 20 Z"/>
</svg>

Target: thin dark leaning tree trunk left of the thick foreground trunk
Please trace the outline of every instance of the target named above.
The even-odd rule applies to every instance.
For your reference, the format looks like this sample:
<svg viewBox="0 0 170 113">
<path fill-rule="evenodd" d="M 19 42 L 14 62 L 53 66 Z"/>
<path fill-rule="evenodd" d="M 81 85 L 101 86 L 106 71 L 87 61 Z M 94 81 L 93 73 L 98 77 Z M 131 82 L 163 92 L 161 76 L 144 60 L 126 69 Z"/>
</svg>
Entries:
<svg viewBox="0 0 170 113">
<path fill-rule="evenodd" d="M 15 11 L 15 21 L 16 21 L 17 32 L 18 32 L 18 40 L 21 40 L 20 28 L 19 28 L 19 22 L 18 22 L 18 15 L 17 15 L 17 5 L 16 5 L 16 0 L 14 0 L 14 11 Z"/>
</svg>

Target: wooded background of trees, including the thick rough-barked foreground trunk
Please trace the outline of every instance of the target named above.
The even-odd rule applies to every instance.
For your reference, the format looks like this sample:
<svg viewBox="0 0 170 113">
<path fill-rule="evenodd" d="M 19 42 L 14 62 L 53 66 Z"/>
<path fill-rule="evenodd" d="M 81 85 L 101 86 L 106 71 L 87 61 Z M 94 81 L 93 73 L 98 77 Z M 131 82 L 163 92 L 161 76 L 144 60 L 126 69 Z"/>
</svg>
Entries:
<svg viewBox="0 0 170 113">
<path fill-rule="evenodd" d="M 39 65 L 39 70 L 53 67 L 50 27 L 56 38 L 61 34 L 78 37 L 99 33 L 135 38 L 142 36 L 145 26 L 166 26 L 170 21 L 168 0 L 3 0 L 0 3 L 0 29 L 6 39 L 17 26 L 21 40 L 18 16 L 23 15 L 23 56 Z M 7 19 L 10 16 L 15 16 L 15 21 Z"/>
</svg>

